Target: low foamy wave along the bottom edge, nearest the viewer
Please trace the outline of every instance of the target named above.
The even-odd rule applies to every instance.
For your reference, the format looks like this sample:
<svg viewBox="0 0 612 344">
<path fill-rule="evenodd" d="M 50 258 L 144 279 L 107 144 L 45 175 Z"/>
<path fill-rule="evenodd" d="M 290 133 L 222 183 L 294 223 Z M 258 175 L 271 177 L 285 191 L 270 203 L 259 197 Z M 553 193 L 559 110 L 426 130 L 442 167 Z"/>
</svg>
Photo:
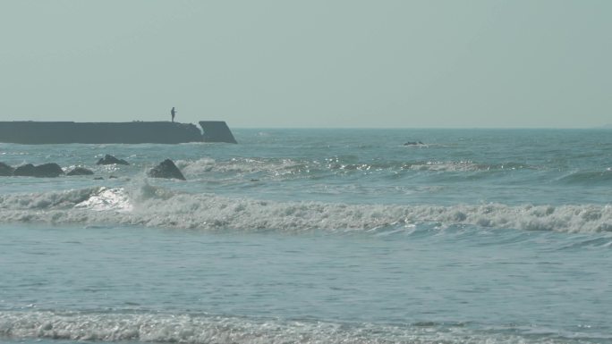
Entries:
<svg viewBox="0 0 612 344">
<path fill-rule="evenodd" d="M 533 329 L 531 329 L 532 331 Z M 573 343 L 588 333 L 476 331 L 461 323 L 405 325 L 151 313 L 0 312 L 0 338 L 165 343 Z"/>
</svg>

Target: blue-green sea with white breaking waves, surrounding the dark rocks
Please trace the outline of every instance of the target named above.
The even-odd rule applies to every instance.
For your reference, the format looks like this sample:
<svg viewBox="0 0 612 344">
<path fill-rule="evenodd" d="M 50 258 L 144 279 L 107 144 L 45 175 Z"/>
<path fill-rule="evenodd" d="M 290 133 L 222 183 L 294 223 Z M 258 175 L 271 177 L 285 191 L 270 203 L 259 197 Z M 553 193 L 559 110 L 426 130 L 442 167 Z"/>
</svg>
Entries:
<svg viewBox="0 0 612 344">
<path fill-rule="evenodd" d="M 612 343 L 612 130 L 233 131 L 1 143 L 0 342 Z"/>
</svg>

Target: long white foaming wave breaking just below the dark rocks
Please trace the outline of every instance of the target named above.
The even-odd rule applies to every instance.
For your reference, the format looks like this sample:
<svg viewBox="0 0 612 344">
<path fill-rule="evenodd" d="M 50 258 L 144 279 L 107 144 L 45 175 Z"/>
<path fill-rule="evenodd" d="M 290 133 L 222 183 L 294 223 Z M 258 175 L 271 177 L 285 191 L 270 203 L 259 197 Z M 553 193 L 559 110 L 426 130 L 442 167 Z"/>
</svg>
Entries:
<svg viewBox="0 0 612 344">
<path fill-rule="evenodd" d="M 191 194 L 149 185 L 0 196 L 0 222 L 113 223 L 237 231 L 371 231 L 434 223 L 524 231 L 612 231 L 612 206 L 347 205 Z"/>
</svg>

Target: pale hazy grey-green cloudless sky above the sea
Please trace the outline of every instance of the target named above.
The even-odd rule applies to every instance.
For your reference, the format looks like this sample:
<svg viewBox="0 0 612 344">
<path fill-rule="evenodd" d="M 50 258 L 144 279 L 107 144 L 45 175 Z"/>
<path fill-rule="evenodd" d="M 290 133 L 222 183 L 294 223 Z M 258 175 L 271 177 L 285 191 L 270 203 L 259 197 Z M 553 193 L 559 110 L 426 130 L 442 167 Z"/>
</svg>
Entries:
<svg viewBox="0 0 612 344">
<path fill-rule="evenodd" d="M 3 0 L 0 121 L 612 123 L 609 0 Z"/>
</svg>

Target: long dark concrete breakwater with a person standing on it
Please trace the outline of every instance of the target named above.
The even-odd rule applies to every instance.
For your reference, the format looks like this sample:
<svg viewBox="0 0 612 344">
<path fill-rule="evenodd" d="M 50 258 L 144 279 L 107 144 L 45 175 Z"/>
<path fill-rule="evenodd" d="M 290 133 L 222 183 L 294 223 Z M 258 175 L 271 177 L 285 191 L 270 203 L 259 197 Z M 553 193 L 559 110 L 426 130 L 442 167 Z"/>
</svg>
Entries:
<svg viewBox="0 0 612 344">
<path fill-rule="evenodd" d="M 63 143 L 236 143 L 225 122 L 202 121 L 200 126 L 178 122 L 0 122 L 0 142 Z"/>
</svg>

